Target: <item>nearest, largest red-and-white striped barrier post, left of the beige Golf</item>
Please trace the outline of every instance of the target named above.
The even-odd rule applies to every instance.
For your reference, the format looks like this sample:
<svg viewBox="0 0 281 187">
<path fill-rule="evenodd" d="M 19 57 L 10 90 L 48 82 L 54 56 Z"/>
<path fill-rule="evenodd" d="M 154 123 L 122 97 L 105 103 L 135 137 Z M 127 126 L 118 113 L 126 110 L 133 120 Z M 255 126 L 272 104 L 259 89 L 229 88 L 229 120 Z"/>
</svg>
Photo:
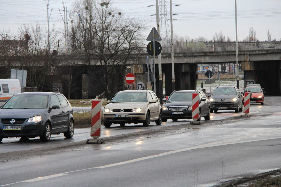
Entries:
<svg viewBox="0 0 281 187">
<path fill-rule="evenodd" d="M 88 139 L 86 144 L 102 144 L 104 141 L 97 139 L 101 137 L 101 100 L 92 100 L 91 114 L 90 136 L 94 139 Z"/>
</svg>

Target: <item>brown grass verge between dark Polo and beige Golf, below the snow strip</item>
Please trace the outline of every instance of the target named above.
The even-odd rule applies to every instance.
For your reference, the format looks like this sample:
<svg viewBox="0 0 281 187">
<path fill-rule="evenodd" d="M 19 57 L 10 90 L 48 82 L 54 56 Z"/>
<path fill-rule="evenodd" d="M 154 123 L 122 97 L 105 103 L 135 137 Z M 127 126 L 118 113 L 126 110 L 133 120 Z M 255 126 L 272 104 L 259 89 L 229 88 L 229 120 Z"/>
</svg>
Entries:
<svg viewBox="0 0 281 187">
<path fill-rule="evenodd" d="M 103 116 L 103 112 L 101 113 L 101 116 Z M 91 126 L 91 112 L 74 112 L 73 117 L 75 128 L 88 128 Z M 103 123 L 102 119 L 101 123 Z"/>
</svg>

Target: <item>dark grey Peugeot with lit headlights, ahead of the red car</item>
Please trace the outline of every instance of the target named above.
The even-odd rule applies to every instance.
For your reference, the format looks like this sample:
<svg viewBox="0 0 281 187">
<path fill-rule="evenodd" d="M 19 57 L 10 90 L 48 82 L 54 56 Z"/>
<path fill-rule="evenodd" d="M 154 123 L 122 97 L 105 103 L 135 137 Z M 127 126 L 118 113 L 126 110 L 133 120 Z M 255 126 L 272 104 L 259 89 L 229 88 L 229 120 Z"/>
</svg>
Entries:
<svg viewBox="0 0 281 187">
<path fill-rule="evenodd" d="M 218 110 L 243 111 L 243 98 L 236 86 L 218 86 L 211 97 L 211 113 Z"/>
</svg>

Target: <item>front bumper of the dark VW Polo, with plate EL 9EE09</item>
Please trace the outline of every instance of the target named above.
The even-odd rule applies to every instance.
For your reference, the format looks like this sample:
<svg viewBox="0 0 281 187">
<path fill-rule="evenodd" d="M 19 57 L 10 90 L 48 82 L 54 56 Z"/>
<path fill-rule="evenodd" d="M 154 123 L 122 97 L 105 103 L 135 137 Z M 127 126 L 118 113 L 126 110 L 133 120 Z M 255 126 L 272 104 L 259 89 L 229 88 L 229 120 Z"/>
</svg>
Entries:
<svg viewBox="0 0 281 187">
<path fill-rule="evenodd" d="M 1 120 L 0 120 L 1 121 Z M 0 137 L 3 138 L 22 138 L 22 137 L 38 137 L 43 134 L 44 123 L 40 121 L 39 123 L 26 123 L 15 124 L 15 126 L 21 126 L 21 130 L 3 130 L 3 126 L 13 125 L 13 124 L 3 124 L 0 122 Z"/>
</svg>

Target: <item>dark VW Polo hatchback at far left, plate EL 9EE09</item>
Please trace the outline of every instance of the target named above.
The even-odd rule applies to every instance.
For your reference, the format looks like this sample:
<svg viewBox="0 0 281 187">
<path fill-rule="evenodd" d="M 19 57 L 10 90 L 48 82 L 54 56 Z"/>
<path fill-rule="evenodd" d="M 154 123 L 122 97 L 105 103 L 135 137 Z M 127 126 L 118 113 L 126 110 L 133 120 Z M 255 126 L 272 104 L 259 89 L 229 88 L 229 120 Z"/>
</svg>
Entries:
<svg viewBox="0 0 281 187">
<path fill-rule="evenodd" d="M 51 134 L 74 134 L 70 103 L 59 93 L 25 92 L 13 95 L 0 109 L 0 142 L 3 138 L 40 137 L 47 142 Z"/>
</svg>

